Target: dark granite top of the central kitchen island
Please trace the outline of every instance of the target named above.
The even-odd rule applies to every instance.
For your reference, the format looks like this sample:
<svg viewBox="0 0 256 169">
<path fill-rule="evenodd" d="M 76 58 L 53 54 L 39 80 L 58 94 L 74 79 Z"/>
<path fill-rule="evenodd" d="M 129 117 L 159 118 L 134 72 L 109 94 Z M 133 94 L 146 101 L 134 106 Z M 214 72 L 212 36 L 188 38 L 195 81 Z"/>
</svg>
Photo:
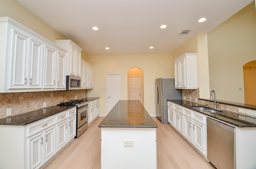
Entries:
<svg viewBox="0 0 256 169">
<path fill-rule="evenodd" d="M 98 127 L 157 128 L 157 125 L 139 100 L 119 100 Z"/>
</svg>

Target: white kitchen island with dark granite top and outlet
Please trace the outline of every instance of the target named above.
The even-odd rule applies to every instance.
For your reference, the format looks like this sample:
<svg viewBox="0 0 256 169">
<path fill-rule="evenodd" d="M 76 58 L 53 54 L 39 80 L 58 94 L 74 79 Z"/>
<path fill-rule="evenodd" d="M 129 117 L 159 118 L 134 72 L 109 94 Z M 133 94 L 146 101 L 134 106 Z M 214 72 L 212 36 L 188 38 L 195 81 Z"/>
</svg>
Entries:
<svg viewBox="0 0 256 169">
<path fill-rule="evenodd" d="M 157 125 L 139 100 L 119 100 L 98 127 L 101 169 L 156 169 Z"/>
</svg>

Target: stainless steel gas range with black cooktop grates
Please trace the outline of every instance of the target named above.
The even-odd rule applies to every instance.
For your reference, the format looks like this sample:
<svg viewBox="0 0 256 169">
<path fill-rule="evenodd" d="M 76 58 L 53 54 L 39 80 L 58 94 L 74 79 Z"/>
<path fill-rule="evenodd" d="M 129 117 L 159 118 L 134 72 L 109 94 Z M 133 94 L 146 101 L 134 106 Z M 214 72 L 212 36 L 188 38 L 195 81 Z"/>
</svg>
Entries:
<svg viewBox="0 0 256 169">
<path fill-rule="evenodd" d="M 58 106 L 76 105 L 76 138 L 88 128 L 88 100 L 70 100 L 61 102 Z"/>
</svg>

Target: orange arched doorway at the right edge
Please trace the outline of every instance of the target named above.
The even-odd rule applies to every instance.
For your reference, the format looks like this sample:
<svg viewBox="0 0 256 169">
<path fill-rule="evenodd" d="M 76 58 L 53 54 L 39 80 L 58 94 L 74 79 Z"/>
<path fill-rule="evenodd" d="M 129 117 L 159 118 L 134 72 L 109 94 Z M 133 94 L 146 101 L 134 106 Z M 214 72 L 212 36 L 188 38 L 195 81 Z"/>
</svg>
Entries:
<svg viewBox="0 0 256 169">
<path fill-rule="evenodd" d="M 256 61 L 250 61 L 243 66 L 244 73 L 244 103 L 256 105 Z"/>
</svg>

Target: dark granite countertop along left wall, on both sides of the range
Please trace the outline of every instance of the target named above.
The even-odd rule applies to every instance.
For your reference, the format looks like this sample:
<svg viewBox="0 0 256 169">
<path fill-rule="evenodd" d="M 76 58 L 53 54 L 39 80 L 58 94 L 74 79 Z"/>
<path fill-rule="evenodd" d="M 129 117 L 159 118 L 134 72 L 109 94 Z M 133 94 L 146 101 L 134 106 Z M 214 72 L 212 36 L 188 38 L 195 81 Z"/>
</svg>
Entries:
<svg viewBox="0 0 256 169">
<path fill-rule="evenodd" d="M 88 100 L 88 102 L 90 102 L 90 101 L 98 99 L 98 98 L 99 97 L 87 97 L 87 98 L 83 98 L 83 99 Z M 17 115 L 6 117 L 6 118 L 1 118 L 0 125 L 25 126 L 32 122 L 36 122 L 43 118 L 47 118 L 49 116 L 63 112 L 65 110 L 68 110 L 73 107 L 76 107 L 76 106 L 50 106 L 47 108 L 42 108 L 42 109 L 34 110 L 31 112 L 17 114 Z"/>
</svg>

